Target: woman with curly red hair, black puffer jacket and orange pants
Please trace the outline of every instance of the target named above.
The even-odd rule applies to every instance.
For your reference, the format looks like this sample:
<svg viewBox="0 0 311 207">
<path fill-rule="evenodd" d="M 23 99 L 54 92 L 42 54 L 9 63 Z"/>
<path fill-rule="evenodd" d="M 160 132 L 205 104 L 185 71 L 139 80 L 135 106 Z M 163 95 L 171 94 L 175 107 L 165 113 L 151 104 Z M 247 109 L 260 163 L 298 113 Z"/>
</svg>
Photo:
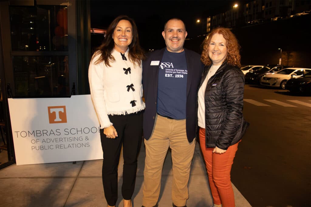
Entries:
<svg viewBox="0 0 311 207">
<path fill-rule="evenodd" d="M 230 171 L 248 122 L 243 118 L 244 75 L 239 44 L 226 28 L 203 42 L 205 64 L 198 91 L 198 126 L 214 206 L 234 207 Z"/>
</svg>

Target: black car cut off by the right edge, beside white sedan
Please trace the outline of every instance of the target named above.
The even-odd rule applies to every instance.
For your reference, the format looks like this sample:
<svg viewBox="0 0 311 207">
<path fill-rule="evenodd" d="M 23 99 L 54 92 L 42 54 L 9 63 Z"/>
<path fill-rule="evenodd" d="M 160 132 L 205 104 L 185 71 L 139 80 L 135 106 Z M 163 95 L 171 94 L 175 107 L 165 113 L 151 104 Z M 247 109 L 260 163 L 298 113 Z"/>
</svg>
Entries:
<svg viewBox="0 0 311 207">
<path fill-rule="evenodd" d="M 288 80 L 285 89 L 290 92 L 311 94 L 311 70 L 299 78 Z"/>
</svg>

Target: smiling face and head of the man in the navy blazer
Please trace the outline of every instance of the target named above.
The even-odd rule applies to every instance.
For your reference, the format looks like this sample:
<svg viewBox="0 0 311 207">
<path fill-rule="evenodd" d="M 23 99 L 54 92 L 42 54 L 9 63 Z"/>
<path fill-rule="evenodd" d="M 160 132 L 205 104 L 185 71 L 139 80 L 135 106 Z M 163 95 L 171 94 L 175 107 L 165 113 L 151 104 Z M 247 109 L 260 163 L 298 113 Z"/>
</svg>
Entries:
<svg viewBox="0 0 311 207">
<path fill-rule="evenodd" d="M 165 31 L 162 32 L 162 36 L 169 52 L 183 52 L 183 43 L 187 37 L 183 21 L 169 20 L 166 23 Z"/>
</svg>

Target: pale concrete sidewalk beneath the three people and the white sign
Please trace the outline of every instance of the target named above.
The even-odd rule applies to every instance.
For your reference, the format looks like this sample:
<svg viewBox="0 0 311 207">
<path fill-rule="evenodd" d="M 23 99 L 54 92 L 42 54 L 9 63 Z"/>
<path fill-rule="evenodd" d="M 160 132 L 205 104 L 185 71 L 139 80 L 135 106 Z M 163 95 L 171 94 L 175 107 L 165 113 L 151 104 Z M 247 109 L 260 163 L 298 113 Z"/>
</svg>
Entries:
<svg viewBox="0 0 311 207">
<path fill-rule="evenodd" d="M 145 147 L 142 144 L 138 157 L 137 179 L 133 206 L 142 206 L 142 185 L 145 162 Z M 102 160 L 11 165 L 0 171 L 0 206 L 103 206 L 107 203 L 101 178 Z M 121 196 L 123 159 L 121 155 L 119 172 L 118 207 L 123 206 Z M 161 181 L 159 207 L 171 207 L 172 161 L 168 152 Z M 188 207 L 207 207 L 213 205 L 208 185 L 205 165 L 197 143 L 189 179 Z M 233 186 L 237 207 L 251 206 L 242 194 Z"/>
</svg>

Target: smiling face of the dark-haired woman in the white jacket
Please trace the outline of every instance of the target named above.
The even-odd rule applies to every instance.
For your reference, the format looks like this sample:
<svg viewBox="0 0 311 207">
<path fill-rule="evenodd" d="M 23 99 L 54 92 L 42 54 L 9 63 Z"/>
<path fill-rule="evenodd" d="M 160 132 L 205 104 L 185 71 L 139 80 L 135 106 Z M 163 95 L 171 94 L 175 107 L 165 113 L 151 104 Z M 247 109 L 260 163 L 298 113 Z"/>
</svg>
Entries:
<svg viewBox="0 0 311 207">
<path fill-rule="evenodd" d="M 131 23 L 128 20 L 120 20 L 114 29 L 112 38 L 114 39 L 114 49 L 118 52 L 126 52 L 133 39 Z"/>
</svg>

